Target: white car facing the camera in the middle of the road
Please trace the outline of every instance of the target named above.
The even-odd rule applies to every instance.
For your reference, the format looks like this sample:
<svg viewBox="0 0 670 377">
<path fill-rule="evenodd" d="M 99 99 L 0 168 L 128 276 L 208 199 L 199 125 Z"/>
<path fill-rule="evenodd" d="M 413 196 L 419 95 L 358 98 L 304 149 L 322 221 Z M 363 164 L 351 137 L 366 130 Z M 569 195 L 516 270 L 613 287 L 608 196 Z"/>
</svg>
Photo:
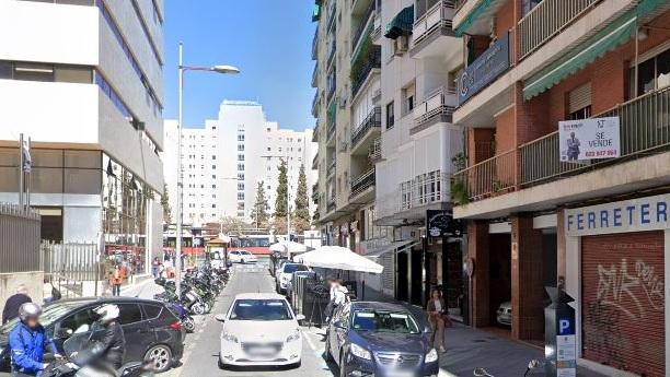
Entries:
<svg viewBox="0 0 670 377">
<path fill-rule="evenodd" d="M 302 334 L 290 305 L 278 294 L 243 293 L 235 296 L 223 322 L 219 367 L 300 365 Z"/>
</svg>

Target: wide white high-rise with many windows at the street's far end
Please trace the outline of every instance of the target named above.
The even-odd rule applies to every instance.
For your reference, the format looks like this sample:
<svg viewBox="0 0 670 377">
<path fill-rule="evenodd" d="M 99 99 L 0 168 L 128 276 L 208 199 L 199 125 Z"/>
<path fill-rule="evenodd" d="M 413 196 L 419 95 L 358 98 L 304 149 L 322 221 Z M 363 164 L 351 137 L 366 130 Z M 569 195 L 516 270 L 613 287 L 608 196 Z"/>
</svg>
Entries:
<svg viewBox="0 0 670 377">
<path fill-rule="evenodd" d="M 163 158 L 173 209 L 177 188 L 176 136 L 177 122 L 165 120 Z M 288 157 L 291 207 L 301 164 L 305 168 L 308 196 L 316 181 L 316 172 L 312 169 L 316 153 L 312 130 L 279 129 L 277 122 L 266 120 L 263 107 L 255 102 L 223 101 L 219 119 L 206 120 L 203 128 L 184 128 L 182 140 L 185 223 L 204 224 L 224 216 L 251 220 L 261 181 L 272 212 L 282 158 Z"/>
</svg>

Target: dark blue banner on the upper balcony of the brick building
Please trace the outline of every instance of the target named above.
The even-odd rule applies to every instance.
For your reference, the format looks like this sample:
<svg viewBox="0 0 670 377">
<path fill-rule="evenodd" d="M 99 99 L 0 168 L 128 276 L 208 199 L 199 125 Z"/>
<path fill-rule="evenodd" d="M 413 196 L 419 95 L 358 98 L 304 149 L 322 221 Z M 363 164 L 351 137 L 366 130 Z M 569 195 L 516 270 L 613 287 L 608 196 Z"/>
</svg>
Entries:
<svg viewBox="0 0 670 377">
<path fill-rule="evenodd" d="M 509 68 L 509 33 L 471 62 L 459 78 L 459 105 L 475 95 Z"/>
</svg>

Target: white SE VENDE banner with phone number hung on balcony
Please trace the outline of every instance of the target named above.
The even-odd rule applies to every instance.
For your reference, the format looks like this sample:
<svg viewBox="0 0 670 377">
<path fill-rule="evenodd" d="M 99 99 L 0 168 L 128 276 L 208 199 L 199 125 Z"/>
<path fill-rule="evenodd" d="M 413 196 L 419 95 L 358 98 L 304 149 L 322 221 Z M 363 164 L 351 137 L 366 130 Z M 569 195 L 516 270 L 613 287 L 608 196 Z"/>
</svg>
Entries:
<svg viewBox="0 0 670 377">
<path fill-rule="evenodd" d="M 561 161 L 613 158 L 621 155 L 619 117 L 558 122 Z"/>
</svg>

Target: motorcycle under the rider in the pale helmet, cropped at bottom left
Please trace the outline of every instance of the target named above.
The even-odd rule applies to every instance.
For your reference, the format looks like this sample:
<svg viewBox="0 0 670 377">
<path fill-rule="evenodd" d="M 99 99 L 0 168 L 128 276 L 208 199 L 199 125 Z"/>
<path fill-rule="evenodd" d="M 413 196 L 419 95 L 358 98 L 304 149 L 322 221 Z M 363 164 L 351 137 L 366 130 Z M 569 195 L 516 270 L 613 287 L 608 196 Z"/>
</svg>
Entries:
<svg viewBox="0 0 670 377">
<path fill-rule="evenodd" d="M 42 377 L 139 377 L 150 373 L 150 364 L 141 362 L 126 363 L 118 369 L 93 369 L 97 356 L 103 353 L 103 344 L 91 340 L 93 334 L 73 335 L 63 344 L 65 356 L 49 363 L 42 372 Z"/>
</svg>

